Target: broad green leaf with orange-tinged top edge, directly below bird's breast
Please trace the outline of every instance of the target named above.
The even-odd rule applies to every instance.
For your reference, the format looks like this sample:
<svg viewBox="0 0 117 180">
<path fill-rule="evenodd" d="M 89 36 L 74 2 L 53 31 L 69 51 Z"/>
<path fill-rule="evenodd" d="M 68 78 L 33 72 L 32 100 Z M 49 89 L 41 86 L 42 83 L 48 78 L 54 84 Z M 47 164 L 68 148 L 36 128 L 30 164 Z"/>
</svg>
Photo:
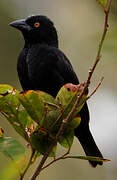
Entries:
<svg viewBox="0 0 117 180">
<path fill-rule="evenodd" d="M 47 130 L 61 113 L 55 99 L 42 91 L 26 91 L 19 100 L 32 119 Z"/>
</svg>

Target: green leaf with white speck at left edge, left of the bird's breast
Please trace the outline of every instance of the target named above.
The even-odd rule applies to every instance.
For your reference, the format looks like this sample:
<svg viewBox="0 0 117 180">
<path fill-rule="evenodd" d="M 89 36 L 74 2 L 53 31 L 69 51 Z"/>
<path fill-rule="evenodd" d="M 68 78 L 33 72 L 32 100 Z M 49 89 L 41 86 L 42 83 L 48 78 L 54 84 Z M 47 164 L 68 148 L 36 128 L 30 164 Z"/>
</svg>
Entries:
<svg viewBox="0 0 117 180">
<path fill-rule="evenodd" d="M 20 102 L 18 100 L 19 92 L 9 85 L 0 85 L 0 110 L 13 128 L 26 140 L 28 140 L 22 121 L 26 121 L 28 114 L 25 113 L 25 119 L 22 120 L 19 113 Z M 29 118 L 28 118 L 29 119 Z M 26 121 L 27 122 L 27 121 Z"/>
</svg>

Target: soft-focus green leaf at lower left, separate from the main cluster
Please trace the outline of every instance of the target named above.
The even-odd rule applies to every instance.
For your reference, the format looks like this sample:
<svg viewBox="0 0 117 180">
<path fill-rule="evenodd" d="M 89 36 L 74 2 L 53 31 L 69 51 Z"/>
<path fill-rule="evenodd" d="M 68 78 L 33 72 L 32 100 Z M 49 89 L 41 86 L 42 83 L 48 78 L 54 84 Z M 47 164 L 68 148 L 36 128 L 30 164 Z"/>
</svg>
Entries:
<svg viewBox="0 0 117 180">
<path fill-rule="evenodd" d="M 24 147 L 15 139 L 11 137 L 0 138 L 0 152 L 12 160 L 23 156 L 25 153 Z"/>
</svg>

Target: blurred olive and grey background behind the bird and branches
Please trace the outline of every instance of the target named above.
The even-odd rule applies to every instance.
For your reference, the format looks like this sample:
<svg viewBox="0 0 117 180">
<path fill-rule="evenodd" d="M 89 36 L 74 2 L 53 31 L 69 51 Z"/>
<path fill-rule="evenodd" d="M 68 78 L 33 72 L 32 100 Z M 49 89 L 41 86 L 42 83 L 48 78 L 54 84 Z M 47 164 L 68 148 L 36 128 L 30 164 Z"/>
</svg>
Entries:
<svg viewBox="0 0 117 180">
<path fill-rule="evenodd" d="M 20 32 L 8 24 L 32 14 L 47 15 L 54 21 L 59 35 L 59 47 L 69 57 L 80 81 L 86 80 L 93 64 L 101 38 L 104 14 L 96 0 L 1 0 L 0 1 L 0 83 L 21 90 L 16 64 L 23 47 Z M 65 160 L 43 171 L 43 180 L 116 180 L 117 179 L 117 1 L 113 0 L 109 17 L 109 31 L 104 42 L 102 58 L 92 78 L 90 92 L 102 76 L 104 81 L 97 93 L 88 100 L 90 128 L 105 158 L 111 162 L 103 167 L 91 168 L 87 161 Z M 5 119 L 0 126 L 7 136 L 26 142 L 18 136 Z M 60 153 L 60 152 L 59 152 Z M 84 155 L 74 140 L 72 154 Z M 0 154 L 0 169 L 9 160 Z M 37 162 L 38 163 L 38 162 Z M 34 166 L 30 175 L 34 171 Z M 1 171 L 0 171 L 1 172 Z M 15 180 L 18 178 L 15 178 Z M 28 179 L 28 177 L 26 177 Z M 38 179 L 38 178 L 37 178 Z"/>
</svg>

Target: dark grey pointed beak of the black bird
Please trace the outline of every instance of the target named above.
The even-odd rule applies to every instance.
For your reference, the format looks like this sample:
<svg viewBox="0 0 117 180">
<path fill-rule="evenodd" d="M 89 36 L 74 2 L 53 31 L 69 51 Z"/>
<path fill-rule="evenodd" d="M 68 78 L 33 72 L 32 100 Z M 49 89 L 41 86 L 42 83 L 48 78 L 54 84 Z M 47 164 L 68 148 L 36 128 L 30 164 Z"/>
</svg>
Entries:
<svg viewBox="0 0 117 180">
<path fill-rule="evenodd" d="M 13 21 L 9 25 L 21 31 L 30 30 L 30 26 L 25 22 L 25 19 Z"/>
</svg>

